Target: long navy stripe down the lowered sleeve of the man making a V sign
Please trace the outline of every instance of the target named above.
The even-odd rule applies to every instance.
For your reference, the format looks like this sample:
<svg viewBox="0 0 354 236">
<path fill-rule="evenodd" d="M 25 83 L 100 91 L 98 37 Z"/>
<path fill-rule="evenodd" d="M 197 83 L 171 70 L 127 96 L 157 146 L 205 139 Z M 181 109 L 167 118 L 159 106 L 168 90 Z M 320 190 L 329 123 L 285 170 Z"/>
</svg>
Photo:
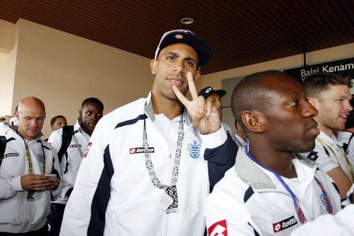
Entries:
<svg viewBox="0 0 354 236">
<path fill-rule="evenodd" d="M 92 200 L 91 219 L 87 230 L 88 236 L 103 235 L 104 232 L 106 209 L 111 197 L 111 179 L 114 174 L 109 145 L 104 149 L 103 163 L 101 178 Z"/>
</svg>

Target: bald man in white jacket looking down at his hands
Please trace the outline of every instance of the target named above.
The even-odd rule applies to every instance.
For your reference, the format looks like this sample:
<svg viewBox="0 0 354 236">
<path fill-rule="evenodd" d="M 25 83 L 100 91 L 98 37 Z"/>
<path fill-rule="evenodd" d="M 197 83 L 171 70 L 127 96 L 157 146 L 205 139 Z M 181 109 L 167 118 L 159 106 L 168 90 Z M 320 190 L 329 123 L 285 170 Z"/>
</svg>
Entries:
<svg viewBox="0 0 354 236">
<path fill-rule="evenodd" d="M 44 103 L 24 98 L 17 118 L 0 159 L 0 235 L 48 235 L 50 199 L 59 197 L 62 184 L 57 154 L 41 140 Z"/>
</svg>

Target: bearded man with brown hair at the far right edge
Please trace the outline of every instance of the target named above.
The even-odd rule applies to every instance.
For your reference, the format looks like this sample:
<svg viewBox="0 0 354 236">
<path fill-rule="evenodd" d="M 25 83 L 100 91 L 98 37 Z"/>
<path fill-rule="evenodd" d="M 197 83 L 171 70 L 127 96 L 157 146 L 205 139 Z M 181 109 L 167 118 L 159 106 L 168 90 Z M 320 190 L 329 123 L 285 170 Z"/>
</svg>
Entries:
<svg viewBox="0 0 354 236">
<path fill-rule="evenodd" d="M 351 80 L 330 73 L 315 73 L 305 78 L 303 86 L 308 101 L 318 111 L 315 120 L 320 134 L 313 151 L 302 155 L 318 163 L 319 168 L 335 181 L 342 197 L 346 198 L 346 192 L 354 181 L 354 170 L 333 133 L 344 129 L 349 112 L 353 110 L 349 91 Z"/>
</svg>

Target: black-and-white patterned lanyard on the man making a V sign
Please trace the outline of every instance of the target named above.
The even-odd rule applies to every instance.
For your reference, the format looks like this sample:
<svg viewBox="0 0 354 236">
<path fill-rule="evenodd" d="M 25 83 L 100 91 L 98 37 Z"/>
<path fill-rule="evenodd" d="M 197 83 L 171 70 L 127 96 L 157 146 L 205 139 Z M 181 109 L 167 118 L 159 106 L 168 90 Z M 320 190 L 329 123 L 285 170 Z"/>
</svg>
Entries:
<svg viewBox="0 0 354 236">
<path fill-rule="evenodd" d="M 167 208 L 166 212 L 176 212 L 176 208 L 178 208 L 178 201 L 177 201 L 177 188 L 176 188 L 176 183 L 178 179 L 178 170 L 179 170 L 179 165 L 180 165 L 180 154 L 181 154 L 181 149 L 182 149 L 182 143 L 183 143 L 183 138 L 184 138 L 184 132 L 183 132 L 183 125 L 185 124 L 184 120 L 184 113 L 180 116 L 180 121 L 178 125 L 178 138 L 177 138 L 177 147 L 176 147 L 176 153 L 175 153 L 175 158 L 174 158 L 174 167 L 172 168 L 172 176 L 171 176 L 171 185 L 162 185 L 160 183 L 160 180 L 156 176 L 155 170 L 153 170 L 153 164 L 151 161 L 151 155 L 149 152 L 145 152 L 145 166 L 147 167 L 147 171 L 149 172 L 149 176 L 151 179 L 151 182 L 156 188 L 160 188 L 166 192 L 171 199 L 174 200 L 174 202 Z M 142 147 L 147 150 L 149 149 L 149 142 L 147 140 L 147 125 L 146 125 L 146 119 L 144 119 L 144 129 L 143 129 L 143 134 L 142 134 Z"/>
</svg>

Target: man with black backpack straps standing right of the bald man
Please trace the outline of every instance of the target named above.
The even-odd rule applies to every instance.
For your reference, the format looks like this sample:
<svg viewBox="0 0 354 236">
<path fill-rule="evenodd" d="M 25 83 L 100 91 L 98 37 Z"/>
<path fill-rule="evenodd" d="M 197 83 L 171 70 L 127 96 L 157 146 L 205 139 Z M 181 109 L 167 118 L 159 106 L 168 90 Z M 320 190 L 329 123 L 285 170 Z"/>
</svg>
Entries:
<svg viewBox="0 0 354 236">
<path fill-rule="evenodd" d="M 62 178 L 66 183 L 61 197 L 53 202 L 50 207 L 51 212 L 48 217 L 50 236 L 59 235 L 68 197 L 73 191 L 76 175 L 88 145 L 88 140 L 90 140 L 98 120 L 102 118 L 103 109 L 102 102 L 97 98 L 85 99 L 82 102 L 79 118 L 75 125 L 57 129 L 48 138 L 48 144 L 58 152 L 60 166 L 62 167 Z M 71 140 L 64 140 L 66 132 L 69 133 L 68 136 L 70 136 Z M 64 147 L 63 145 L 66 142 L 68 142 L 68 145 Z"/>
</svg>

